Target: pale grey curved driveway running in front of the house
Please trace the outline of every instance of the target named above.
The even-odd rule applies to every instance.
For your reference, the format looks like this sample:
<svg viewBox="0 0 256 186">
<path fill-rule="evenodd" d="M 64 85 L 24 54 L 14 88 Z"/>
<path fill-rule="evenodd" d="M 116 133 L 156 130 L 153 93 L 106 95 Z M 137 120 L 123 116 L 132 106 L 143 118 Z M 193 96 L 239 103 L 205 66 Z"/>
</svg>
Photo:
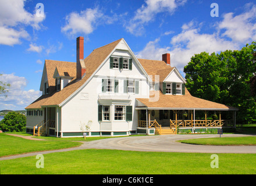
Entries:
<svg viewBox="0 0 256 186">
<path fill-rule="evenodd" d="M 250 135 L 223 134 L 222 137 L 244 137 Z M 0 158 L 0 160 L 23 158 L 53 152 L 66 152 L 81 149 L 119 149 L 124 151 L 147 151 L 147 152 L 196 152 L 196 153 L 256 153 L 256 145 L 252 146 L 215 146 L 215 145 L 191 145 L 181 144 L 177 140 L 193 138 L 219 138 L 218 134 L 212 135 L 151 135 L 140 137 L 108 138 L 83 142 L 75 148 L 59 149 L 53 151 L 43 151 L 26 153 L 23 155 L 13 155 Z M 23 137 L 24 138 L 24 137 Z M 31 140 L 34 138 L 30 138 Z"/>
</svg>

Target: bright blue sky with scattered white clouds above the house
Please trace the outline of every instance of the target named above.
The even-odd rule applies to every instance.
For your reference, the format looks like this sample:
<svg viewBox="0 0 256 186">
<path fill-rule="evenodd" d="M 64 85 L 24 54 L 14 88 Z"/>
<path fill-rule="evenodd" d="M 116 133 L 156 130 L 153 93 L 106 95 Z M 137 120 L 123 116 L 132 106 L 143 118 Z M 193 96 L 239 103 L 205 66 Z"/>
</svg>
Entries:
<svg viewBox="0 0 256 186">
<path fill-rule="evenodd" d="M 0 95 L 0 110 L 24 109 L 38 98 L 44 60 L 76 62 L 79 36 L 85 58 L 125 38 L 137 58 L 161 60 L 168 52 L 182 73 L 195 53 L 256 41 L 256 2 L 0 0 L 0 81 L 12 85 L 7 98 Z"/>
</svg>

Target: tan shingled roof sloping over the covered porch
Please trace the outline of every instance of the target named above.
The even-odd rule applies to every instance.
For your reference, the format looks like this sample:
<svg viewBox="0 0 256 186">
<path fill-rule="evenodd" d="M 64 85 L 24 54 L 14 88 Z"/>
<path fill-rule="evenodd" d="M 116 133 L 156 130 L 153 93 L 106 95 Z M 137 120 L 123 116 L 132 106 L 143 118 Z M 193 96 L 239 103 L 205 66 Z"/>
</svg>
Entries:
<svg viewBox="0 0 256 186">
<path fill-rule="evenodd" d="M 190 95 L 189 91 L 185 95 L 168 95 L 162 94 L 161 91 L 151 91 L 151 95 L 158 95 L 159 99 L 153 98 L 137 98 L 136 109 L 152 109 L 152 110 L 239 110 L 232 106 L 207 101 L 205 99 L 196 98 Z"/>
</svg>

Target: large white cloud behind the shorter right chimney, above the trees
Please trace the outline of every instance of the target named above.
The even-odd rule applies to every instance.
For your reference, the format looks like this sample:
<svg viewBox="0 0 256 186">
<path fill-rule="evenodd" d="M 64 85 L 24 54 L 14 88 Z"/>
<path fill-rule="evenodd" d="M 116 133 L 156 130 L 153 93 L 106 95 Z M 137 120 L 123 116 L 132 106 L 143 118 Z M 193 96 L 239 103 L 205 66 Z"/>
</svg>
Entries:
<svg viewBox="0 0 256 186">
<path fill-rule="evenodd" d="M 193 21 L 182 26 L 182 33 L 172 37 L 170 44 L 173 47 L 161 48 L 158 46 L 159 38 L 150 41 L 145 48 L 137 52 L 138 58 L 162 60 L 163 53 L 170 53 L 171 66 L 183 71 L 184 66 L 190 62 L 195 53 L 220 52 L 226 49 L 238 49 L 239 45 L 219 37 L 218 32 L 213 34 L 201 34 L 201 24 L 196 25 Z"/>
</svg>

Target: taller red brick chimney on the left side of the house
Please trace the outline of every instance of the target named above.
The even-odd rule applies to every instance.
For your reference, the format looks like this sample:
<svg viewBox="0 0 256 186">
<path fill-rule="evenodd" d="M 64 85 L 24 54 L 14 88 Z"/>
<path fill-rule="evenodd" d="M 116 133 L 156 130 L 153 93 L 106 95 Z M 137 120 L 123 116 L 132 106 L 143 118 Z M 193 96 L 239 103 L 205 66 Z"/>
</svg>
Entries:
<svg viewBox="0 0 256 186">
<path fill-rule="evenodd" d="M 86 73 L 86 66 L 84 64 L 84 37 L 76 38 L 76 78 L 81 80 L 84 73 Z"/>
</svg>

